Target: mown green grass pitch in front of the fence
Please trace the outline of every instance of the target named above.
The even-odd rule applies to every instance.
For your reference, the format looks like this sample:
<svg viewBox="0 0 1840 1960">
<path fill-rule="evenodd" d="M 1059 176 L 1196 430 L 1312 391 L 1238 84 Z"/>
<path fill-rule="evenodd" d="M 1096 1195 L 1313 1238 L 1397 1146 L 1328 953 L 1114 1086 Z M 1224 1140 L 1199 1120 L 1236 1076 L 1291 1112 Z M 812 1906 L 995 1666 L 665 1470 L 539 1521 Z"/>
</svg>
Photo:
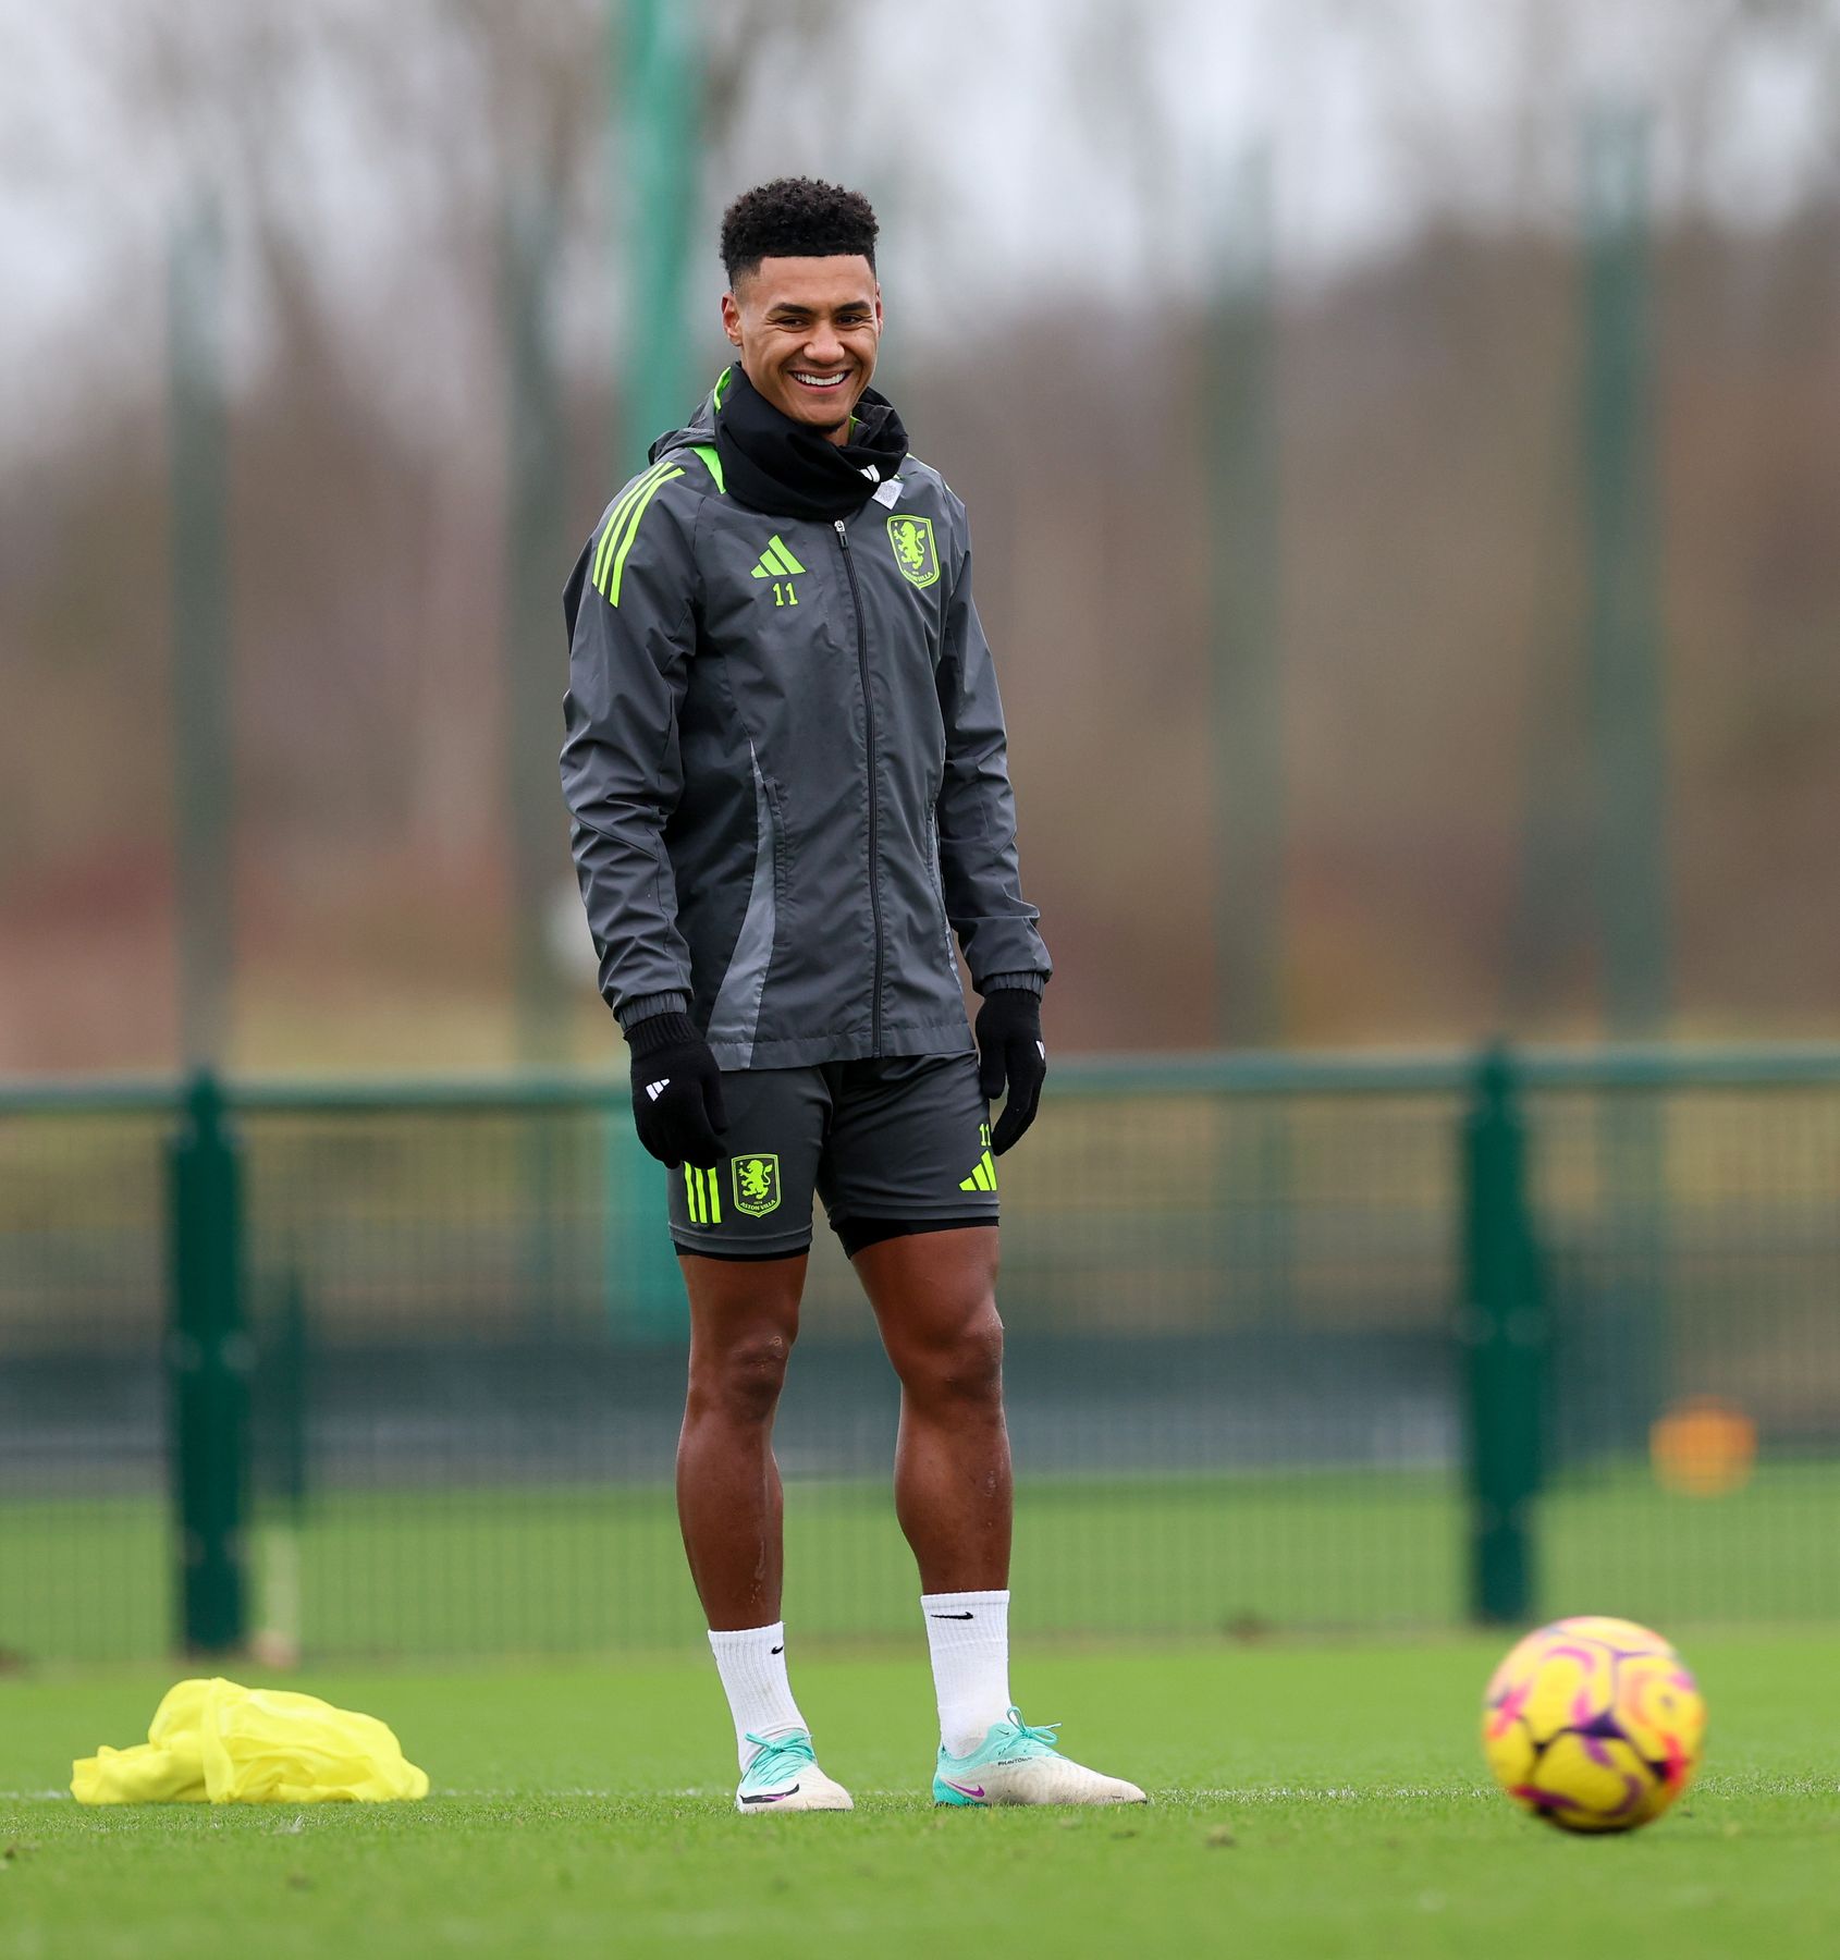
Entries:
<svg viewBox="0 0 1840 1960">
<path fill-rule="evenodd" d="M 737 1817 L 705 1662 L 314 1670 L 435 1780 L 382 1807 L 82 1811 L 73 1754 L 129 1742 L 170 1674 L 0 1682 L 6 1960 L 251 1954 L 1278 1960 L 1830 1954 L 1840 1637 L 1685 1641 L 1707 1770 L 1660 1825 L 1579 1840 L 1485 1784 L 1503 1642 L 1021 1650 L 1033 1721 L 1142 1780 L 1146 1811 L 935 1811 L 919 1637 L 796 1652 L 848 1817 Z M 249 1678 L 249 1676 L 245 1676 Z"/>
</svg>

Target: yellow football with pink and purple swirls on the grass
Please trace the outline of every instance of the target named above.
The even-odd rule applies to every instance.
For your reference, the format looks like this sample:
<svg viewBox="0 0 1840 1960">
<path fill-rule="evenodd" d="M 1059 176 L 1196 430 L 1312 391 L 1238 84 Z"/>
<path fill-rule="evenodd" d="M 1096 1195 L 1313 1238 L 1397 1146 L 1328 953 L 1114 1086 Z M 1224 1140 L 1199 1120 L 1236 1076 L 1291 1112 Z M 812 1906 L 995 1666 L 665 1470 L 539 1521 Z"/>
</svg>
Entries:
<svg viewBox="0 0 1840 1960">
<path fill-rule="evenodd" d="M 1705 1701 L 1679 1654 L 1628 1619 L 1560 1619 L 1489 1680 L 1481 1746 L 1495 1782 L 1560 1831 L 1654 1823 L 1693 1780 Z"/>
</svg>

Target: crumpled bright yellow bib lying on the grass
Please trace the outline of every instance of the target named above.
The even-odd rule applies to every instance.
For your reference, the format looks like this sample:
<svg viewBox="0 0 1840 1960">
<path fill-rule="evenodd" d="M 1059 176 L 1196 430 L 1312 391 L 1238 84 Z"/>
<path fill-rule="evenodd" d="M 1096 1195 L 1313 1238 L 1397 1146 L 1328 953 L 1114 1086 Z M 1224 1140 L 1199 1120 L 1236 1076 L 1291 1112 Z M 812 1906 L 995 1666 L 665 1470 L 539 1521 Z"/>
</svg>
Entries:
<svg viewBox="0 0 1840 1960">
<path fill-rule="evenodd" d="M 425 1797 L 388 1723 L 317 1695 L 180 1682 L 145 1742 L 71 1764 L 78 1803 L 386 1803 Z"/>
</svg>

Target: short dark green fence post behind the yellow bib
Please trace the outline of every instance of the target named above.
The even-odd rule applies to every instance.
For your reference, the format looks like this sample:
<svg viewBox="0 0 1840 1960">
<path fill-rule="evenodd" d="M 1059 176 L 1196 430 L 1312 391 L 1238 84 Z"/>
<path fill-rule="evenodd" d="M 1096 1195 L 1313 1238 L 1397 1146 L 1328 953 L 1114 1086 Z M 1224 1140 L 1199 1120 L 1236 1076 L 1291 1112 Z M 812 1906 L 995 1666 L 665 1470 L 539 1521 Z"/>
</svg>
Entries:
<svg viewBox="0 0 1840 1960">
<path fill-rule="evenodd" d="M 223 1090 L 200 1070 L 170 1145 L 172 1503 L 180 1644 L 227 1652 L 247 1633 L 249 1339 L 243 1331 L 241 1164 Z"/>
</svg>

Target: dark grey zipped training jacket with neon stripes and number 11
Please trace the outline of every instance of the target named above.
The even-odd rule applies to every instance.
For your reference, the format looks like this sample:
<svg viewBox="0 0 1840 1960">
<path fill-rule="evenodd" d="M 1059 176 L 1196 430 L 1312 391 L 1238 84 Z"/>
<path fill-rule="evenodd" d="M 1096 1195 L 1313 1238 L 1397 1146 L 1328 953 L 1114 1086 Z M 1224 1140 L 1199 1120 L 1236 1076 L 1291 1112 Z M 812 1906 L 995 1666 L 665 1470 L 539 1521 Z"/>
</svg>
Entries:
<svg viewBox="0 0 1840 1960">
<path fill-rule="evenodd" d="M 1052 970 L 964 506 L 909 457 L 843 523 L 762 515 L 711 416 L 653 447 L 564 598 L 602 994 L 623 1025 L 688 1007 L 723 1068 L 962 1053 L 954 931 L 980 992 Z"/>
</svg>

